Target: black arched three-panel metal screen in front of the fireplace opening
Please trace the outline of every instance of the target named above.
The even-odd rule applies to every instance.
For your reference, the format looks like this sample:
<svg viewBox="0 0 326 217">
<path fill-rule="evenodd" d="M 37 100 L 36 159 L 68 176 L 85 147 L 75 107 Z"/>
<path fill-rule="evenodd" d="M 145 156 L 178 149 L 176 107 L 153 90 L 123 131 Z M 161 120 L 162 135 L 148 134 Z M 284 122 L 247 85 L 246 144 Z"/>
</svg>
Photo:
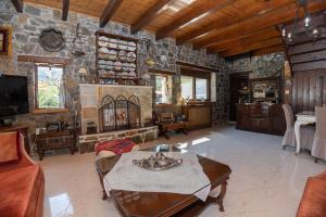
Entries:
<svg viewBox="0 0 326 217">
<path fill-rule="evenodd" d="M 100 114 L 102 131 L 140 127 L 140 105 L 136 95 L 131 95 L 129 99 L 120 95 L 115 100 L 110 95 L 104 97 Z"/>
</svg>

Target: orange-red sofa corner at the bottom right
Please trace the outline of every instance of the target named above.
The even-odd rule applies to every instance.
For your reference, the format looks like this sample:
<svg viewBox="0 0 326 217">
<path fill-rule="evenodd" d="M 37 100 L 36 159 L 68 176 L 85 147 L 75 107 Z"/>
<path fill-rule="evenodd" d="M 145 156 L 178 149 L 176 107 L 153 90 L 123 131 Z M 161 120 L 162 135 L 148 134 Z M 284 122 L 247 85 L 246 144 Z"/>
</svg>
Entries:
<svg viewBox="0 0 326 217">
<path fill-rule="evenodd" d="M 326 171 L 308 178 L 297 217 L 326 216 Z"/>
</svg>

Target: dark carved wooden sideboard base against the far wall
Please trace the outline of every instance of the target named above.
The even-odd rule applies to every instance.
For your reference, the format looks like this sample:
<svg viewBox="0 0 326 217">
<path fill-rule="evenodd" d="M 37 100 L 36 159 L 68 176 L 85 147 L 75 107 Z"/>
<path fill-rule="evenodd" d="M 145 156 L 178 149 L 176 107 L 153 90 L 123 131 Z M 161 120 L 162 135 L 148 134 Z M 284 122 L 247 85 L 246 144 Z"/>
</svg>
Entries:
<svg viewBox="0 0 326 217">
<path fill-rule="evenodd" d="M 286 120 L 281 105 L 238 104 L 236 128 L 283 136 L 286 130 Z"/>
</svg>

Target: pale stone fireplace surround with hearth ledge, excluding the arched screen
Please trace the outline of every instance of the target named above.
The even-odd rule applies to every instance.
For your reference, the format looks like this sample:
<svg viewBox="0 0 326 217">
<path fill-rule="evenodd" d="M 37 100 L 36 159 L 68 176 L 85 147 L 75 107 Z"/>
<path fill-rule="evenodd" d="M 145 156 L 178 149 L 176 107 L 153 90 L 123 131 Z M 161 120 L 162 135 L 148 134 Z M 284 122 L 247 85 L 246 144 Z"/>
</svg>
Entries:
<svg viewBox="0 0 326 217">
<path fill-rule="evenodd" d="M 120 131 L 101 132 L 101 115 L 99 114 L 102 99 L 110 95 L 114 99 L 120 95 L 128 99 L 136 95 L 140 104 L 140 128 Z M 80 98 L 80 124 L 79 151 L 91 152 L 93 144 L 99 140 L 112 140 L 117 138 L 129 138 L 136 143 L 156 139 L 158 127 L 145 127 L 145 120 L 152 118 L 152 87 L 147 86 L 121 86 L 121 85 L 79 85 Z M 97 133 L 87 135 L 87 123 L 95 123 Z"/>
</svg>

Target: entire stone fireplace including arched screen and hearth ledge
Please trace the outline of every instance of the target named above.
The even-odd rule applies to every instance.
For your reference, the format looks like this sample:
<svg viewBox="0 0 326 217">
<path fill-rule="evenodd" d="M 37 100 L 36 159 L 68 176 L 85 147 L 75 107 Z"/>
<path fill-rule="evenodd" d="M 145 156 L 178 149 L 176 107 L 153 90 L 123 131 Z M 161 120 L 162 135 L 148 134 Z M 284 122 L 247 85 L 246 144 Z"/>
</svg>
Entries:
<svg viewBox="0 0 326 217">
<path fill-rule="evenodd" d="M 93 152 L 98 141 L 129 139 L 135 143 L 158 138 L 158 126 L 146 126 L 152 118 L 152 87 L 80 84 L 80 153 Z M 91 123 L 95 132 L 87 133 Z"/>
</svg>

